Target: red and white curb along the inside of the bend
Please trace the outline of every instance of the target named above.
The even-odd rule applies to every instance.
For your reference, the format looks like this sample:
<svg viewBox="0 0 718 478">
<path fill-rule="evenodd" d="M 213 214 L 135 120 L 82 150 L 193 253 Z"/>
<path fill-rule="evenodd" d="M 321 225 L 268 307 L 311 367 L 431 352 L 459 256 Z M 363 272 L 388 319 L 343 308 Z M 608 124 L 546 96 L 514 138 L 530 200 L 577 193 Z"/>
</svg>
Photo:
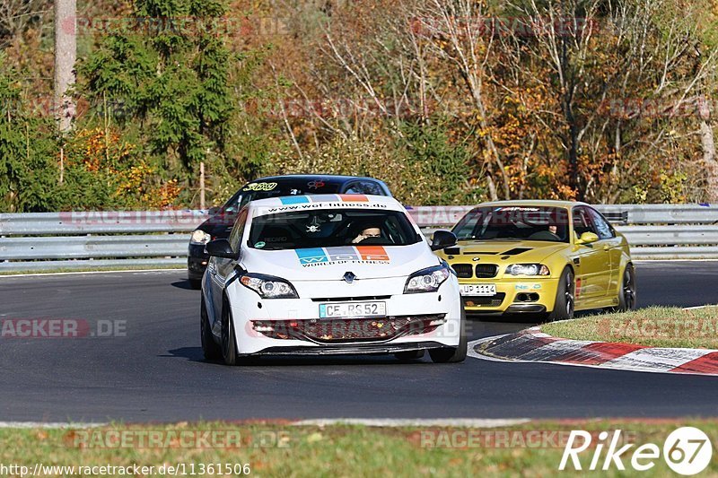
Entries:
<svg viewBox="0 0 718 478">
<path fill-rule="evenodd" d="M 471 357 L 484 360 L 718 376 L 715 350 L 570 340 L 544 334 L 539 327 L 479 339 L 468 347 Z"/>
</svg>

